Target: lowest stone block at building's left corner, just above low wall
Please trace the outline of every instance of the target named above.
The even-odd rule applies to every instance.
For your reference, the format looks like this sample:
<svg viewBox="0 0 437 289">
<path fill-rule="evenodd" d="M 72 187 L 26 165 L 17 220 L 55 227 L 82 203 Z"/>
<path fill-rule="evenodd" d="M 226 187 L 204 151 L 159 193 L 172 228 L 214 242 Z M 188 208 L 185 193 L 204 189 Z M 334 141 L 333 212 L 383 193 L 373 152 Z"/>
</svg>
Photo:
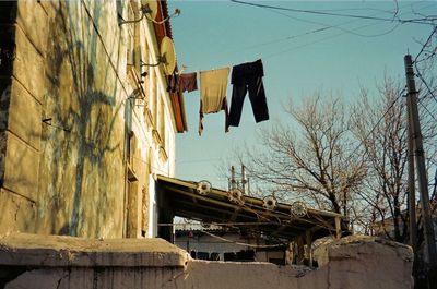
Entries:
<svg viewBox="0 0 437 289">
<path fill-rule="evenodd" d="M 35 204 L 25 197 L 0 189 L 0 234 L 33 231 Z"/>
</svg>

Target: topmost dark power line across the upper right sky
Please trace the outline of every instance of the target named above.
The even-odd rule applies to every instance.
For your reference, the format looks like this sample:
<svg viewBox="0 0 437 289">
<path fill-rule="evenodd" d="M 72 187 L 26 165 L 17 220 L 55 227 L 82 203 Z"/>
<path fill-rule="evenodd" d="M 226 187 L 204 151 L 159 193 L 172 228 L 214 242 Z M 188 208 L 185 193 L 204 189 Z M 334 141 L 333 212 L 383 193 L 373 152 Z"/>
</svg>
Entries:
<svg viewBox="0 0 437 289">
<path fill-rule="evenodd" d="M 240 0 L 231 0 L 231 2 L 244 4 L 244 5 L 258 7 L 258 8 L 268 8 L 268 9 L 274 9 L 274 10 L 290 11 L 290 12 L 296 12 L 296 13 L 308 13 L 308 14 L 316 14 L 316 15 L 350 17 L 350 19 L 361 19 L 361 20 L 376 20 L 376 21 L 386 21 L 386 22 L 399 22 L 401 24 L 414 23 L 414 24 L 433 25 L 433 23 L 430 21 L 435 20 L 435 19 L 430 19 L 428 22 L 425 22 L 426 20 L 428 20 L 428 17 L 401 20 L 398 16 L 394 16 L 393 19 L 385 19 L 385 17 L 376 17 L 376 16 L 369 16 L 369 15 L 342 14 L 342 13 L 331 13 L 331 12 L 316 11 L 316 10 L 304 10 L 304 9 L 267 5 L 267 4 L 259 4 L 259 3 L 246 2 L 246 1 L 240 1 Z"/>
</svg>

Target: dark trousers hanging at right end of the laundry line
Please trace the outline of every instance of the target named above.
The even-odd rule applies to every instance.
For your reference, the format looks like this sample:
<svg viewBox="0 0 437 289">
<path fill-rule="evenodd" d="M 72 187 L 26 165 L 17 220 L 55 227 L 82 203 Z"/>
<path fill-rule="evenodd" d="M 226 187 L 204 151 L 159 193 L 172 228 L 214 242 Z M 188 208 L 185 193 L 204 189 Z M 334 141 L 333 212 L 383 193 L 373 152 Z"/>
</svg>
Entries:
<svg viewBox="0 0 437 289">
<path fill-rule="evenodd" d="M 261 59 L 233 67 L 231 83 L 233 94 L 228 127 L 238 127 L 241 118 L 243 104 L 246 93 L 249 91 L 249 99 L 256 122 L 269 119 L 264 85 L 262 83 L 264 71 Z"/>
</svg>

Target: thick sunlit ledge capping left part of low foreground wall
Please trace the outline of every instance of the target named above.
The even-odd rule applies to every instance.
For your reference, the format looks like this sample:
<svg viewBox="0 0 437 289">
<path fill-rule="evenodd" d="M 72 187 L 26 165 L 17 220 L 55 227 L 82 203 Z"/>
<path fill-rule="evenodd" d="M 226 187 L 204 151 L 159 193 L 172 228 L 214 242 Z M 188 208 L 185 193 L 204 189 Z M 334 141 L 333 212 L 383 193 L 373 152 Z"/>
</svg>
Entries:
<svg viewBox="0 0 437 289">
<path fill-rule="evenodd" d="M 190 256 L 158 238 L 85 239 L 14 232 L 0 236 L 0 266 L 185 267 Z"/>
</svg>

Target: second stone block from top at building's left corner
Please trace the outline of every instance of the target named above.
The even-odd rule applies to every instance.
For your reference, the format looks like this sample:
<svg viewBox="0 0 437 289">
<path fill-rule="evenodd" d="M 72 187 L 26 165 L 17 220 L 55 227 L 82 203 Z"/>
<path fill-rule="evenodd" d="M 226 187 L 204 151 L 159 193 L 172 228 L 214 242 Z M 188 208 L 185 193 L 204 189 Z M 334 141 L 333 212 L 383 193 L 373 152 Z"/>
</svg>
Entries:
<svg viewBox="0 0 437 289">
<path fill-rule="evenodd" d="M 13 76 L 39 101 L 45 92 L 44 59 L 22 29 L 15 31 Z"/>
</svg>

